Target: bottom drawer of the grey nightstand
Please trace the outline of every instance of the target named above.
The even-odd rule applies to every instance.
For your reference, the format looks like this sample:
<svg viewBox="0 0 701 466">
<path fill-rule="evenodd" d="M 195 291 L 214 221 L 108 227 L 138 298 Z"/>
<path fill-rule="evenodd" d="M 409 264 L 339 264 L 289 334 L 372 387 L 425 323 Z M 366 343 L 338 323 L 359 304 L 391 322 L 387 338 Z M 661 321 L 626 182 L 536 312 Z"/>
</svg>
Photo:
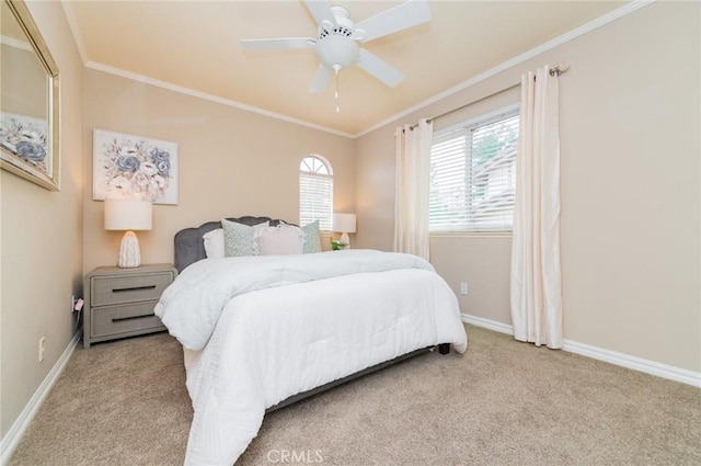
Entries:
<svg viewBox="0 0 701 466">
<path fill-rule="evenodd" d="M 161 319 L 153 314 L 156 303 L 158 302 L 92 309 L 91 336 L 100 338 L 136 330 L 165 330 Z"/>
</svg>

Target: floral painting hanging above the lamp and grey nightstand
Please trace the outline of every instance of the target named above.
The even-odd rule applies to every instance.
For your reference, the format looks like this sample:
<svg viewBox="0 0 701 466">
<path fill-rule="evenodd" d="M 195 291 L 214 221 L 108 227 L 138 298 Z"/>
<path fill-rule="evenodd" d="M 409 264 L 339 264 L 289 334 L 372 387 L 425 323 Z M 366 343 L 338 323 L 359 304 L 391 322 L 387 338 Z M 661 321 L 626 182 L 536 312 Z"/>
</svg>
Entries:
<svg viewBox="0 0 701 466">
<path fill-rule="evenodd" d="M 177 204 L 177 144 L 94 129 L 93 198 Z"/>
</svg>

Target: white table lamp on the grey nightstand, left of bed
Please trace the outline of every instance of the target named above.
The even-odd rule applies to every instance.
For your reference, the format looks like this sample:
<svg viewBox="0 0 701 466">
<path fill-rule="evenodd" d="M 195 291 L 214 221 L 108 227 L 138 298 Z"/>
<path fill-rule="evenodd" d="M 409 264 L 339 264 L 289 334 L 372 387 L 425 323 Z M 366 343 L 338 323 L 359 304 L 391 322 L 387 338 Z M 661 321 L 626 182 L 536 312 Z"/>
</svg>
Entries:
<svg viewBox="0 0 701 466">
<path fill-rule="evenodd" d="M 149 201 L 105 200 L 105 229 L 126 230 L 117 265 L 123 269 L 141 265 L 141 250 L 134 230 L 150 230 L 151 225 L 152 208 Z"/>
</svg>

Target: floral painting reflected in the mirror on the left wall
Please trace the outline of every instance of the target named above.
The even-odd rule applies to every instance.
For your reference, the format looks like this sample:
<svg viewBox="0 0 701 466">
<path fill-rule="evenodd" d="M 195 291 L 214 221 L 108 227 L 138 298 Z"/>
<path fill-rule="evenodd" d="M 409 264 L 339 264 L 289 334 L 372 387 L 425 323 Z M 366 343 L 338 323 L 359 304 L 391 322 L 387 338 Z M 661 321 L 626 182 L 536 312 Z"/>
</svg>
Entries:
<svg viewBox="0 0 701 466">
<path fill-rule="evenodd" d="M 10 154 L 8 161 L 25 163 L 35 171 L 50 175 L 53 166 L 47 157 L 46 132 L 46 120 L 13 113 L 0 114 L 0 145 Z"/>
</svg>

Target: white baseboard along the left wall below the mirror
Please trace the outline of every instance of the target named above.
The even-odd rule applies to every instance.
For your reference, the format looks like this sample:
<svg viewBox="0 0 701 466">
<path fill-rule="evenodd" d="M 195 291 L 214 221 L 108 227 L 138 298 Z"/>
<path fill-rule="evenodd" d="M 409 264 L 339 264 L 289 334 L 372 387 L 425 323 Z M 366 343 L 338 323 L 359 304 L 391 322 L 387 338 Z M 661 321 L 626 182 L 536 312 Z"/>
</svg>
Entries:
<svg viewBox="0 0 701 466">
<path fill-rule="evenodd" d="M 20 417 L 14 421 L 8 433 L 2 437 L 2 442 L 0 442 L 0 465 L 5 465 L 10 462 L 10 457 L 16 448 L 18 444 L 22 440 L 22 435 L 30 427 L 32 419 L 36 416 L 36 412 L 39 410 L 39 407 L 48 396 L 51 387 L 58 379 L 58 376 L 64 372 L 66 367 L 66 363 L 70 359 L 71 354 L 73 354 L 73 350 L 78 346 L 78 342 L 80 341 L 81 332 L 77 332 L 71 339 L 70 343 L 64 351 L 64 354 L 58 359 L 51 371 L 47 374 L 42 385 L 36 389 L 30 401 L 26 404 Z"/>
</svg>

